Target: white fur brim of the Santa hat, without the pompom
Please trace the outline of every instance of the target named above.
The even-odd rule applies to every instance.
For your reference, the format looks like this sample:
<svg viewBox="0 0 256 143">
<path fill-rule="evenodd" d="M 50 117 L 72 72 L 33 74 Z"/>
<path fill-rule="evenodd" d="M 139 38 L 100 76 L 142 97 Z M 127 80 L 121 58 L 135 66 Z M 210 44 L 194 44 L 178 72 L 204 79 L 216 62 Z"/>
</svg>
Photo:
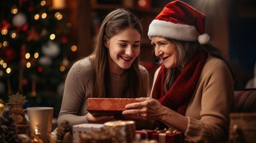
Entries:
<svg viewBox="0 0 256 143">
<path fill-rule="evenodd" d="M 164 20 L 153 20 L 149 25 L 147 36 L 149 36 L 149 39 L 152 36 L 161 36 L 180 41 L 198 41 L 199 33 L 195 26 Z"/>
</svg>

